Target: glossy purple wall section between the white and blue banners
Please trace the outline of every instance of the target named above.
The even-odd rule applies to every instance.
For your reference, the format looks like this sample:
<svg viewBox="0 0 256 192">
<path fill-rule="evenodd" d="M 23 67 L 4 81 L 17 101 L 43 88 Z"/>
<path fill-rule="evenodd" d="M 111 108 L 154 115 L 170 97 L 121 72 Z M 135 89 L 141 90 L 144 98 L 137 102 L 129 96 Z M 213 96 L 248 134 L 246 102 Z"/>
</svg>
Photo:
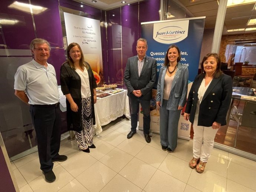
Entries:
<svg viewBox="0 0 256 192">
<path fill-rule="evenodd" d="M 136 44 L 141 37 L 141 22 L 158 21 L 159 10 L 160 1 L 144 0 L 106 11 L 109 71 L 107 75 L 104 70 L 104 78 L 107 83 L 124 86 L 127 59 L 137 54 Z M 108 77 L 109 82 L 106 80 Z"/>
</svg>

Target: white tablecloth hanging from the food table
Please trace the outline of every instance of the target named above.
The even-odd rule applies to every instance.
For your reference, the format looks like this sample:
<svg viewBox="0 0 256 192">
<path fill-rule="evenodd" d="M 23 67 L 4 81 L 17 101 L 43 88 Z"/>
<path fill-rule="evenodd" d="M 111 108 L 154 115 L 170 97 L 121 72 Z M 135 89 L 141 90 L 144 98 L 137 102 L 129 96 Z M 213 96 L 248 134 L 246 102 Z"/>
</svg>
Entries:
<svg viewBox="0 0 256 192">
<path fill-rule="evenodd" d="M 115 120 L 122 115 L 130 118 L 127 90 L 98 99 L 94 104 L 94 109 L 96 124 L 93 128 L 95 134 L 98 135 L 102 132 L 101 126 L 107 125 L 112 120 Z"/>
</svg>

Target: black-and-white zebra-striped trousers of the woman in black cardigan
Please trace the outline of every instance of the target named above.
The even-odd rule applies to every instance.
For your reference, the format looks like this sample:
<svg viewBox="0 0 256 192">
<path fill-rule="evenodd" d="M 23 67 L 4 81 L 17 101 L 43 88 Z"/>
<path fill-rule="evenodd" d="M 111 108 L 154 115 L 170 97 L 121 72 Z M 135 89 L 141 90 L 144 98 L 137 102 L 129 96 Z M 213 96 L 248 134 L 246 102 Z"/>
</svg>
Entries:
<svg viewBox="0 0 256 192">
<path fill-rule="evenodd" d="M 82 98 L 82 126 L 81 132 L 75 131 L 78 148 L 83 150 L 92 145 L 92 98 Z"/>
</svg>

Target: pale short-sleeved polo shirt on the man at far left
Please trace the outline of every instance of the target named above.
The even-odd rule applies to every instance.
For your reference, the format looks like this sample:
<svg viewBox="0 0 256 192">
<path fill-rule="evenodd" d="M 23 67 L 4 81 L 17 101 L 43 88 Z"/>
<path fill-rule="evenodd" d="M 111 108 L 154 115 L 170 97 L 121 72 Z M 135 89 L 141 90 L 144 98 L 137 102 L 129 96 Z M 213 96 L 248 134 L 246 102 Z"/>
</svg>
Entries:
<svg viewBox="0 0 256 192">
<path fill-rule="evenodd" d="M 52 105 L 59 102 L 55 69 L 49 63 L 45 68 L 33 59 L 18 67 L 14 80 L 14 89 L 25 91 L 29 104 Z"/>
</svg>

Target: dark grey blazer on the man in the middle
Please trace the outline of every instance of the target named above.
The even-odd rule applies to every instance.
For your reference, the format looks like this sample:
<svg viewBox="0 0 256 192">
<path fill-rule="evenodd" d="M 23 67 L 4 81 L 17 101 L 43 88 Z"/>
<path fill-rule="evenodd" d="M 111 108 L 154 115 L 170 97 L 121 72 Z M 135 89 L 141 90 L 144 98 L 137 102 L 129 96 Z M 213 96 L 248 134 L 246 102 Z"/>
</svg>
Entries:
<svg viewBox="0 0 256 192">
<path fill-rule="evenodd" d="M 145 56 L 140 76 L 138 72 L 138 57 L 128 58 L 124 72 L 124 82 L 128 89 L 127 95 L 131 98 L 136 98 L 132 92 L 141 90 L 142 96 L 140 96 L 140 99 L 150 100 L 152 98 L 151 90 L 157 78 L 156 75 L 157 62 L 154 58 Z"/>
</svg>

